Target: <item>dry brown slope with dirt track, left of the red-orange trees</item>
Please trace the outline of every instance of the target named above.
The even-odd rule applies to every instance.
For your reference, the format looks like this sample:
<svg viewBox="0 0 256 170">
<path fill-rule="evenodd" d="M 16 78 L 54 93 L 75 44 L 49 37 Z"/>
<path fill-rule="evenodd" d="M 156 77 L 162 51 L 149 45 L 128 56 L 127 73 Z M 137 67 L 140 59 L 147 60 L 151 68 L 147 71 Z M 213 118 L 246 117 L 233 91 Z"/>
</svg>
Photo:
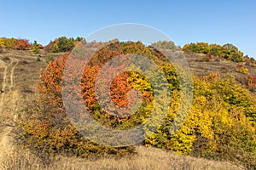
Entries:
<svg viewBox="0 0 256 170">
<path fill-rule="evenodd" d="M 36 84 L 40 69 L 46 67 L 48 55 L 42 51 L 42 61 L 37 62 L 39 54 L 32 51 L 1 49 L 0 53 L 0 159 L 6 158 L 13 150 L 11 131 L 16 126 L 20 111 L 38 96 Z M 60 55 L 60 54 L 59 54 Z M 55 54 L 58 56 L 58 54 Z M 12 141 L 12 142 L 11 142 Z"/>
</svg>

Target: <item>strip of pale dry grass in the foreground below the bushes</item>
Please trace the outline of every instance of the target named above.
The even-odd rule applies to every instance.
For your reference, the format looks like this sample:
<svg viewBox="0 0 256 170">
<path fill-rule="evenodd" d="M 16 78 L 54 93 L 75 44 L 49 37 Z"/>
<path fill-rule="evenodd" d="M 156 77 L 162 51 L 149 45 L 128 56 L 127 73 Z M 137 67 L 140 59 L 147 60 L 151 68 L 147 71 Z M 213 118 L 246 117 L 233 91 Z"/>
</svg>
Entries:
<svg viewBox="0 0 256 170">
<path fill-rule="evenodd" d="M 172 152 L 167 152 L 155 148 L 137 147 L 136 156 L 126 157 L 102 157 L 96 160 L 85 158 L 55 156 L 51 162 L 45 164 L 38 156 L 30 154 L 28 151 L 12 151 L 6 155 L 6 159 L 0 162 L 1 169 L 122 169 L 122 170 L 143 170 L 143 169 L 243 169 L 229 162 L 209 161 L 206 159 L 194 158 L 190 156 L 179 156 Z"/>
</svg>

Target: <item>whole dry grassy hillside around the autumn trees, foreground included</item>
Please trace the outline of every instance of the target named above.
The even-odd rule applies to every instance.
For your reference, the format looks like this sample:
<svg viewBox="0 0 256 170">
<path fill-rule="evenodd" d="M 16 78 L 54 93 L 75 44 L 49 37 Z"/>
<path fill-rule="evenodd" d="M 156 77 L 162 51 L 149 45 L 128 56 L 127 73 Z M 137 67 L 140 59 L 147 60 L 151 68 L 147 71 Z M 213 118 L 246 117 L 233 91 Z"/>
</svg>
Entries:
<svg viewBox="0 0 256 170">
<path fill-rule="evenodd" d="M 64 53 L 49 53 L 40 49 L 38 54 L 31 50 L 1 49 L 0 52 L 0 168 L 3 169 L 42 169 L 44 163 L 30 152 L 17 151 L 12 131 L 16 119 L 23 114 L 27 105 L 32 105 L 38 99 L 36 84 L 40 82 L 40 71 L 46 68 L 49 56 L 57 58 Z M 256 75 L 256 68 L 242 63 L 212 57 L 207 60 L 205 54 L 184 53 L 188 59 L 191 71 L 197 77 L 207 76 L 209 73 L 219 72 L 222 77 L 231 74 L 236 77 L 237 83 L 247 87 L 247 77 Z M 40 61 L 39 61 L 39 60 Z M 237 68 L 247 67 L 246 74 L 237 72 Z M 253 90 L 252 90 L 253 93 Z M 155 148 L 137 146 L 138 155 L 123 158 L 100 158 L 97 161 L 88 161 L 84 158 L 58 157 L 49 165 L 49 169 L 243 169 L 234 163 L 226 161 L 208 161 L 190 156 L 179 156 L 173 152 L 166 152 Z M 154 161 L 153 161 L 154 160 Z M 36 165 L 33 165 L 36 162 Z M 102 163 L 103 162 L 103 163 Z M 2 167 L 1 167 L 2 166 Z"/>
</svg>

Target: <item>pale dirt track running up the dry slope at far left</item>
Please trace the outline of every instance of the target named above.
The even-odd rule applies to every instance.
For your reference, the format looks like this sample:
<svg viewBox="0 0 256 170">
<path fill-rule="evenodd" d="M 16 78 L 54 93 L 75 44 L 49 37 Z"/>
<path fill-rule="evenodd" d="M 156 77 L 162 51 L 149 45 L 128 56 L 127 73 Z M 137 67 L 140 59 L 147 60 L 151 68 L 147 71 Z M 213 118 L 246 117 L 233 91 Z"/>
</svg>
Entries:
<svg viewBox="0 0 256 170">
<path fill-rule="evenodd" d="M 4 65 L 5 64 L 5 65 Z M 0 160 L 2 161 L 13 149 L 10 132 L 15 122 L 18 105 L 18 91 L 15 89 L 15 67 L 18 59 L 10 58 L 9 64 L 1 61 L 3 71 L 2 93 L 0 94 Z M 1 83 L 1 82 L 0 82 Z"/>
</svg>

